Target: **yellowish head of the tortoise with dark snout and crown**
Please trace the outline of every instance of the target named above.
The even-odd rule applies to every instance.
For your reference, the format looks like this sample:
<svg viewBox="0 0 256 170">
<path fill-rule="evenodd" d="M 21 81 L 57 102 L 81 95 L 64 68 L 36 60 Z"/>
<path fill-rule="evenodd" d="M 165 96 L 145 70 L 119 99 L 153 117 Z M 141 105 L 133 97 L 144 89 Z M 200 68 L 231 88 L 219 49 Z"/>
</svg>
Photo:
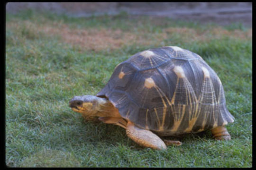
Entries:
<svg viewBox="0 0 256 170">
<path fill-rule="evenodd" d="M 69 101 L 69 107 L 83 116 L 95 116 L 100 100 L 101 98 L 93 95 L 74 96 Z"/>
</svg>

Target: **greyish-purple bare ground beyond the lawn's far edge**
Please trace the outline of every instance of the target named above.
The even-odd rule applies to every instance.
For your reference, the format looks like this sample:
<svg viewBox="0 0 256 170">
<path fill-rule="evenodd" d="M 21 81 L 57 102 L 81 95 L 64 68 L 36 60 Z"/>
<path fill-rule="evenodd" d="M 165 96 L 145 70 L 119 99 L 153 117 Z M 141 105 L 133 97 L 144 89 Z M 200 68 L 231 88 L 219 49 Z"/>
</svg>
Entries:
<svg viewBox="0 0 256 170">
<path fill-rule="evenodd" d="M 6 5 L 6 11 L 10 13 L 23 9 L 50 10 L 73 17 L 116 15 L 125 11 L 131 15 L 216 22 L 219 25 L 240 22 L 252 26 L 251 2 L 9 2 Z"/>
</svg>

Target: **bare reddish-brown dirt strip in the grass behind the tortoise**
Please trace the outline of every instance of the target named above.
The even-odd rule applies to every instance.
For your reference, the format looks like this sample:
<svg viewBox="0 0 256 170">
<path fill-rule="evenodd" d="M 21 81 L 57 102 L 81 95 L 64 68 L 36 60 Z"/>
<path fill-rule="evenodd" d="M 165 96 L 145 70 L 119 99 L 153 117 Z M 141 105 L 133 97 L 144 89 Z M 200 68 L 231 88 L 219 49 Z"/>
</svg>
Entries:
<svg viewBox="0 0 256 170">
<path fill-rule="evenodd" d="M 155 20 L 154 20 L 155 21 Z M 159 20 L 157 20 L 158 22 Z M 102 51 L 106 49 L 115 50 L 125 45 L 154 45 L 163 44 L 165 39 L 175 35 L 182 35 L 180 39 L 183 42 L 208 42 L 214 37 L 215 39 L 228 36 L 229 38 L 239 38 L 247 40 L 252 37 L 252 28 L 247 31 L 242 30 L 226 30 L 221 26 L 209 28 L 207 30 L 196 30 L 186 27 L 165 27 L 161 33 L 148 34 L 146 30 L 137 30 L 134 33 L 131 30 L 122 31 L 120 29 L 95 29 L 95 28 L 71 28 L 64 23 L 36 23 L 33 21 L 12 21 L 6 24 L 8 30 L 26 30 L 27 38 L 34 38 L 40 35 L 55 36 L 58 35 L 64 42 L 80 47 L 83 50 Z M 16 31 L 17 34 L 20 33 Z M 21 34 L 21 33 L 20 33 Z M 18 38 L 13 38 L 18 41 Z"/>
</svg>

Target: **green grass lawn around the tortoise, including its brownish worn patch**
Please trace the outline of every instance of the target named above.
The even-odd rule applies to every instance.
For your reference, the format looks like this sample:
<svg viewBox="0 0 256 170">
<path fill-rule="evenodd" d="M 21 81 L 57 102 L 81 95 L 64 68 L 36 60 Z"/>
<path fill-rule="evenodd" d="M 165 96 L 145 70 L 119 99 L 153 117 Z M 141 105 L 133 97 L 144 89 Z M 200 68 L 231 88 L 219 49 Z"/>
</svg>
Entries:
<svg viewBox="0 0 256 170">
<path fill-rule="evenodd" d="M 71 18 L 23 12 L 6 17 L 6 164 L 9 167 L 251 167 L 252 29 L 169 18 Z M 198 53 L 224 86 L 235 122 L 230 141 L 210 131 L 166 151 L 142 148 L 125 129 L 85 122 L 68 107 L 98 93 L 119 62 L 149 48 Z M 177 139 L 169 137 L 169 139 Z"/>
</svg>

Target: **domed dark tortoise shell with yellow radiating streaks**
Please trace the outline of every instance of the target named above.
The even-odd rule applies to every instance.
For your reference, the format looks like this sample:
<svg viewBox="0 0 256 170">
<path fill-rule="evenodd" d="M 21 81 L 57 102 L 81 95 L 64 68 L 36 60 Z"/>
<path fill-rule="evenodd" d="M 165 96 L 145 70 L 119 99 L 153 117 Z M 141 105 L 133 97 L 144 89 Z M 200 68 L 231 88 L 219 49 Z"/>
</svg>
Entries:
<svg viewBox="0 0 256 170">
<path fill-rule="evenodd" d="M 107 97 L 124 119 L 161 136 L 234 121 L 215 71 L 198 54 L 176 46 L 131 56 L 97 96 Z"/>
</svg>

